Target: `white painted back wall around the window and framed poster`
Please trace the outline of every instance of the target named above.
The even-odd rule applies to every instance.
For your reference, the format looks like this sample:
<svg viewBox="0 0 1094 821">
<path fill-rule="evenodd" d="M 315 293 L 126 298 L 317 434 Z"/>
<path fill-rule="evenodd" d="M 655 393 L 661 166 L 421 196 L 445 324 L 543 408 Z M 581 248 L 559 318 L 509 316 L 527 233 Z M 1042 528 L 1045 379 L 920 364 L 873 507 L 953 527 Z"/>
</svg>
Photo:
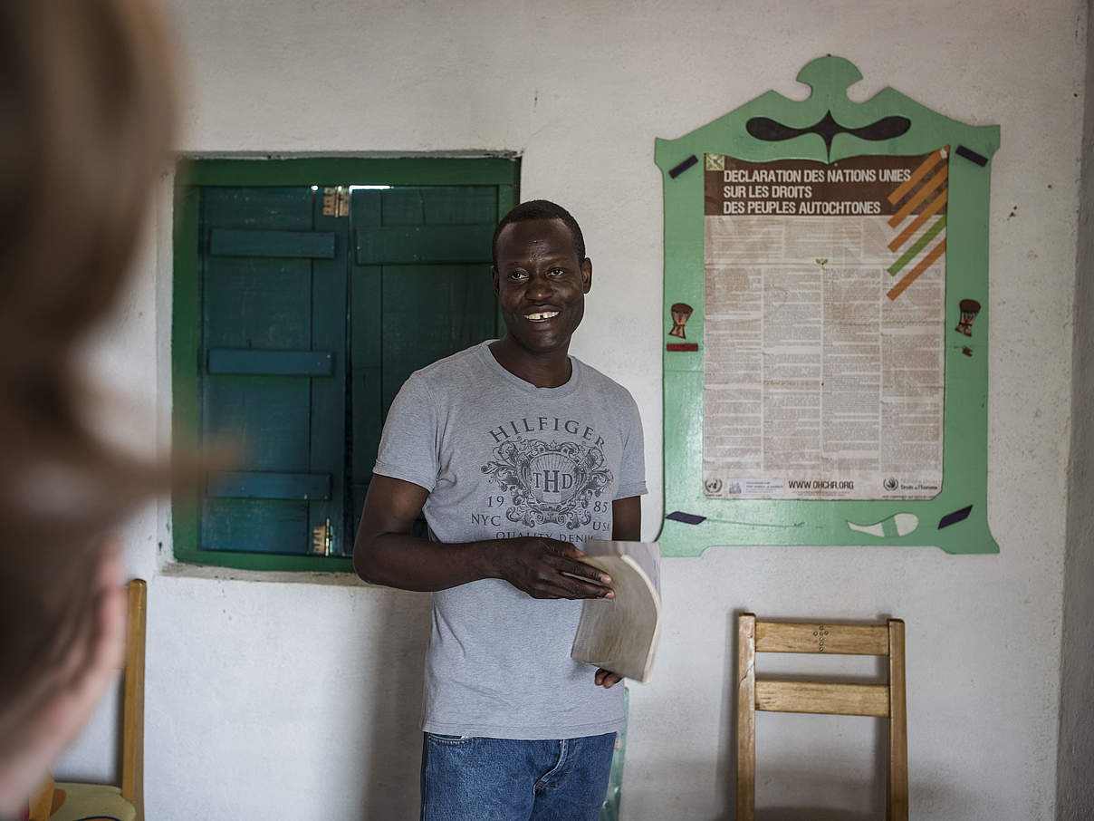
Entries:
<svg viewBox="0 0 1094 821">
<path fill-rule="evenodd" d="M 732 621 L 907 622 L 912 817 L 1050 819 L 1083 114 L 1083 0 L 173 0 L 191 78 L 188 152 L 515 150 L 522 195 L 567 205 L 594 288 L 574 352 L 642 412 L 662 514 L 661 176 L 674 138 L 808 60 L 858 65 L 947 116 L 1002 125 L 991 212 L 989 519 L 1002 553 L 713 548 L 666 562 L 653 682 L 631 690 L 624 817 L 732 817 Z M 170 419 L 170 196 L 108 361 Z M 114 357 L 112 360 L 110 357 Z M 427 597 L 348 579 L 201 578 L 165 567 L 166 509 L 127 531 L 150 580 L 149 818 L 410 819 Z M 163 547 L 158 552 L 156 544 Z M 105 775 L 109 710 L 62 774 Z M 770 721 L 766 719 L 772 719 Z M 761 716 L 769 807 L 880 808 L 871 719 Z M 834 719 L 835 720 L 835 719 Z M 829 737 L 830 738 L 827 738 Z M 813 818 L 819 818 L 819 811 Z"/>
</svg>

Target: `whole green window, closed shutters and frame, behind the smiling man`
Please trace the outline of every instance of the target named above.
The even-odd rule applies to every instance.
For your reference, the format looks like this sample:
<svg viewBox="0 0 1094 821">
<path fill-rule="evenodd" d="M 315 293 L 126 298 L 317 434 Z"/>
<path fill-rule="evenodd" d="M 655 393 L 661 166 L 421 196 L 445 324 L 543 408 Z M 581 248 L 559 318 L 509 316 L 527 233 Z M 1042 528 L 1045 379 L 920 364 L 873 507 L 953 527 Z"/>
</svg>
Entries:
<svg viewBox="0 0 1094 821">
<path fill-rule="evenodd" d="M 309 158 L 181 170 L 175 447 L 226 442 L 237 458 L 175 499 L 175 557 L 350 570 L 398 389 L 502 333 L 490 239 L 516 201 L 519 164 Z M 324 215 L 324 187 L 354 181 L 350 216 Z M 314 555 L 328 521 L 329 555 Z"/>
</svg>

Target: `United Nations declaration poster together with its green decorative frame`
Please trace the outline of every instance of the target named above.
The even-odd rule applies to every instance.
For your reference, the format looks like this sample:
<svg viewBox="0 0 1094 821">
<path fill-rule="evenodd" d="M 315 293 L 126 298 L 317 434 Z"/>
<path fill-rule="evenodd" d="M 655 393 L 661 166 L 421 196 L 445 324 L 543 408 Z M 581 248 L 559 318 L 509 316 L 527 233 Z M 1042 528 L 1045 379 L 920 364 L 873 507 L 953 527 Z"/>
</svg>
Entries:
<svg viewBox="0 0 1094 821">
<path fill-rule="evenodd" d="M 910 68 L 909 68 L 910 70 Z M 998 126 L 806 63 L 671 139 L 665 556 L 717 545 L 998 553 L 988 227 Z"/>
</svg>

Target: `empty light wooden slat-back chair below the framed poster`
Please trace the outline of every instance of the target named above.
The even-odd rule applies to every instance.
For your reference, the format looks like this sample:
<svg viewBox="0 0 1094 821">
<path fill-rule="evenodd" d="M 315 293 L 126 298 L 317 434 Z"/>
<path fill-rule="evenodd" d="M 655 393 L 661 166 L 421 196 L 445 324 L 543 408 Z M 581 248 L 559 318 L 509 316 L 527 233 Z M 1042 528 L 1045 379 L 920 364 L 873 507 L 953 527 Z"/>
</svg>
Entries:
<svg viewBox="0 0 1094 821">
<path fill-rule="evenodd" d="M 885 684 L 756 678 L 757 652 L 888 657 Z M 908 722 L 904 693 L 904 622 L 792 624 L 737 616 L 737 817 L 756 818 L 756 710 L 888 718 L 886 821 L 908 821 Z"/>
</svg>

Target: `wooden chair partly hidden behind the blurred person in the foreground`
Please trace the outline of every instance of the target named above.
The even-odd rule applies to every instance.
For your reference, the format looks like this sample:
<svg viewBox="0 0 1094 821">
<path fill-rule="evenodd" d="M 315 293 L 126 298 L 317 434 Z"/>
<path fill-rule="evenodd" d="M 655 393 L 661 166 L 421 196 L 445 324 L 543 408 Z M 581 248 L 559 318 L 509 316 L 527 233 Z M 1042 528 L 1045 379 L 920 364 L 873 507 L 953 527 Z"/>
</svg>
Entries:
<svg viewBox="0 0 1094 821">
<path fill-rule="evenodd" d="M 31 802 L 30 821 L 117 819 L 144 821 L 144 622 L 148 586 L 133 579 L 128 586 L 125 694 L 123 698 L 121 786 L 47 784 Z"/>
</svg>

